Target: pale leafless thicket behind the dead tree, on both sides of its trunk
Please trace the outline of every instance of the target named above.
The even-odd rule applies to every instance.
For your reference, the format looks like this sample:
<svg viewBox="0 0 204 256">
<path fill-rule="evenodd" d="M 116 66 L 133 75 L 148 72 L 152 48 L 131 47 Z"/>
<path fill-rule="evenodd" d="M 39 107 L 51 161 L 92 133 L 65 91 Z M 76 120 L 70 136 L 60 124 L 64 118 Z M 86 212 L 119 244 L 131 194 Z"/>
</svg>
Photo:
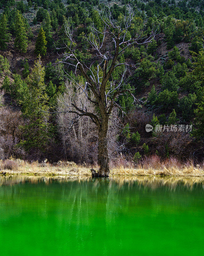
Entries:
<svg viewBox="0 0 204 256">
<path fill-rule="evenodd" d="M 68 113 L 65 106 L 70 106 L 74 101 L 80 108 L 86 106 L 88 112 L 96 112 L 95 106 L 91 101 L 87 101 L 83 92 L 83 81 L 80 81 L 81 91 L 75 92 L 75 84 L 66 82 L 65 93 L 58 97 L 57 124 L 59 127 L 60 138 L 63 144 L 64 158 L 77 163 L 94 162 L 97 159 L 98 149 L 98 129 L 91 121 L 89 116 L 79 117 L 75 113 Z M 93 97 L 93 95 L 90 95 Z M 69 107 L 70 108 L 70 107 Z M 74 111 L 73 107 L 73 111 Z M 62 110 L 62 111 L 61 111 Z M 67 109 L 68 110 L 68 109 Z M 112 112 L 108 130 L 108 151 L 109 155 L 117 153 L 117 116 L 116 110 Z"/>
</svg>

